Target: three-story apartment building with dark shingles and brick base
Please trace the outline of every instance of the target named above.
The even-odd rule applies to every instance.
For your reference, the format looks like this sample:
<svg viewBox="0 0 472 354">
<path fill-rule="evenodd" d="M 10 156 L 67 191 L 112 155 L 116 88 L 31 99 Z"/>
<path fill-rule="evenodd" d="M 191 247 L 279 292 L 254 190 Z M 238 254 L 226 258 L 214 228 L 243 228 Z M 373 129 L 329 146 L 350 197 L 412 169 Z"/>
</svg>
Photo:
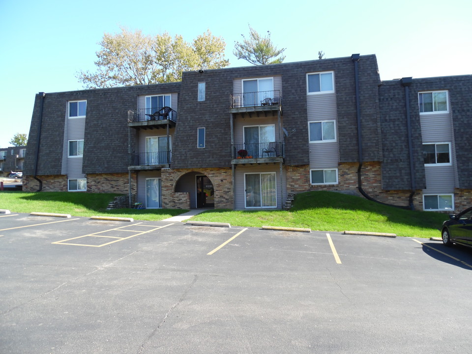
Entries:
<svg viewBox="0 0 472 354">
<path fill-rule="evenodd" d="M 472 76 L 380 80 L 375 55 L 184 72 L 36 95 L 23 189 L 148 208 L 282 208 L 310 190 L 472 202 Z"/>
</svg>

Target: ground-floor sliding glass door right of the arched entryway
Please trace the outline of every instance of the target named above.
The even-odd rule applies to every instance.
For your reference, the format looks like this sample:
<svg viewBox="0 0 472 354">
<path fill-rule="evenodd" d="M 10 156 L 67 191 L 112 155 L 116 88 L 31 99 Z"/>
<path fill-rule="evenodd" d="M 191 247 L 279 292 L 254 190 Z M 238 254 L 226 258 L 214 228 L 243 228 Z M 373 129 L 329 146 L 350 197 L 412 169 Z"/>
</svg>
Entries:
<svg viewBox="0 0 472 354">
<path fill-rule="evenodd" d="M 277 207 L 275 172 L 244 174 L 245 206 Z"/>
</svg>

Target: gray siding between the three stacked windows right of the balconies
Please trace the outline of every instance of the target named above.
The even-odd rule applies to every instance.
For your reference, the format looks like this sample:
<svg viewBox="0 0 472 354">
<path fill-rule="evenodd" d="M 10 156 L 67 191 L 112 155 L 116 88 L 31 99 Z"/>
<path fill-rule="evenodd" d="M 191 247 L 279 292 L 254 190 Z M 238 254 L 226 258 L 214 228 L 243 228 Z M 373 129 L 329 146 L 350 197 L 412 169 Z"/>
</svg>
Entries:
<svg viewBox="0 0 472 354">
<path fill-rule="evenodd" d="M 337 168 L 339 161 L 336 93 L 306 96 L 307 124 L 310 121 L 335 120 L 336 142 L 308 143 L 310 169 Z"/>
</svg>

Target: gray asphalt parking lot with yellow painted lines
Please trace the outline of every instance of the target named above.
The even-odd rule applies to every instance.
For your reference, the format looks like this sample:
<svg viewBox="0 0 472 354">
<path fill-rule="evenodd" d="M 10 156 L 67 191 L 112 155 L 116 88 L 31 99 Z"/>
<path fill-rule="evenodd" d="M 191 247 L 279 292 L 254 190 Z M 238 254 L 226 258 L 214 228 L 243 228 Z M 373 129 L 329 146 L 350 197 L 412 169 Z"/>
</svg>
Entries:
<svg viewBox="0 0 472 354">
<path fill-rule="evenodd" d="M 439 235 L 438 235 L 439 236 Z M 470 353 L 472 251 L 0 214 L 0 353 Z"/>
</svg>

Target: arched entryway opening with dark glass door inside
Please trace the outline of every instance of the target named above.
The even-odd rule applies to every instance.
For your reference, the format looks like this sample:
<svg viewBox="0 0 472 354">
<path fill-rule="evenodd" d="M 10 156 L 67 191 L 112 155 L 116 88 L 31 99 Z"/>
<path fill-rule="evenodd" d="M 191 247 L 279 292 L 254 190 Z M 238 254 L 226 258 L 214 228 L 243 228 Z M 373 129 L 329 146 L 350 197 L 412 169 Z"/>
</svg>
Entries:
<svg viewBox="0 0 472 354">
<path fill-rule="evenodd" d="M 176 183 L 175 192 L 187 192 L 190 196 L 190 207 L 215 207 L 215 190 L 211 179 L 198 171 L 182 175 Z"/>
</svg>

